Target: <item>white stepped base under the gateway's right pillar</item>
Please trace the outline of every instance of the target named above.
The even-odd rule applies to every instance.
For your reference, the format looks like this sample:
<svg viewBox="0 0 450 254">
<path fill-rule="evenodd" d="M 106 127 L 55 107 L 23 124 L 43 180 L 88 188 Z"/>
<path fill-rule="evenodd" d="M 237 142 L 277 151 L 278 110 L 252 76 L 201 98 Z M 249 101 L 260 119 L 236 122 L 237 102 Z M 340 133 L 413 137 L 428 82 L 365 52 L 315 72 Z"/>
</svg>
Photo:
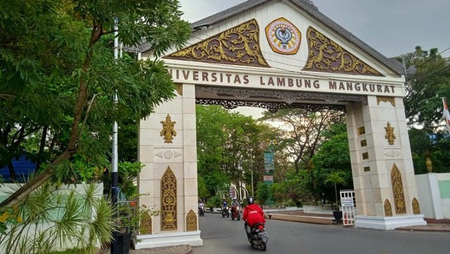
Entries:
<svg viewBox="0 0 450 254">
<path fill-rule="evenodd" d="M 394 217 L 375 217 L 356 215 L 354 227 L 366 229 L 392 230 L 397 227 L 423 226 L 427 222 L 423 220 L 423 215 L 404 215 Z"/>
</svg>

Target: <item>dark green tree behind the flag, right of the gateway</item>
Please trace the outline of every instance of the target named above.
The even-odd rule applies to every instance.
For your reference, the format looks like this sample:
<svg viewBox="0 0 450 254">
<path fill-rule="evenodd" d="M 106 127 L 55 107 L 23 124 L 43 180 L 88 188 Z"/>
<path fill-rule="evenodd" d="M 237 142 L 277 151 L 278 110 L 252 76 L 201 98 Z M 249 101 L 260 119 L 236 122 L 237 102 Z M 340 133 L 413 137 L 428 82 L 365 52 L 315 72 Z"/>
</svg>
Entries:
<svg viewBox="0 0 450 254">
<path fill-rule="evenodd" d="M 450 172 L 450 135 L 444 125 L 441 99 L 450 98 L 450 61 L 438 52 L 416 46 L 414 52 L 397 57 L 413 70 L 406 75 L 404 106 L 416 174 L 427 172 L 427 157 L 435 172 Z"/>
</svg>

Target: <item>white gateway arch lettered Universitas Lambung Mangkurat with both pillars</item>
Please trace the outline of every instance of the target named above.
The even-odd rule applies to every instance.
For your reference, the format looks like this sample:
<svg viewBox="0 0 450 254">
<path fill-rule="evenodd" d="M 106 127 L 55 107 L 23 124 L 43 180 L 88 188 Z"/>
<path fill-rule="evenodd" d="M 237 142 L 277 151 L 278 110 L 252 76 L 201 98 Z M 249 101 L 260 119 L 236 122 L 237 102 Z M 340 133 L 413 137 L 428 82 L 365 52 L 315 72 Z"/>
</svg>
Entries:
<svg viewBox="0 0 450 254">
<path fill-rule="evenodd" d="M 307 0 L 250 0 L 192 24 L 165 54 L 177 96 L 139 125 L 139 198 L 161 210 L 136 248 L 203 245 L 198 229 L 195 103 L 228 108 L 345 108 L 358 215 L 355 227 L 426 224 L 404 113 L 404 76 Z M 151 57 L 148 46 L 136 48 Z"/>
</svg>

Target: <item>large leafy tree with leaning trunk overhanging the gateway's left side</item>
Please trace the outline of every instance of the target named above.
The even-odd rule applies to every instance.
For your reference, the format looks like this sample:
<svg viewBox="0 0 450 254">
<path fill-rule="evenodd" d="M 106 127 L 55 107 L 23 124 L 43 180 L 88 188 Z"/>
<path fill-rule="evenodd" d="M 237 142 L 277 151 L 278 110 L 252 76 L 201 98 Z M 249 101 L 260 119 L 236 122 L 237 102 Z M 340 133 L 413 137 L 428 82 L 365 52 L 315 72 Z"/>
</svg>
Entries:
<svg viewBox="0 0 450 254">
<path fill-rule="evenodd" d="M 1 2 L 0 106 L 5 113 L 0 151 L 11 158 L 25 137 L 41 133 L 42 149 L 36 154 L 45 151 L 51 161 L 2 207 L 14 205 L 51 177 L 62 180 L 72 174 L 67 165 L 74 155 L 88 165 L 107 164 L 112 122 L 145 118 L 174 96 L 159 57 L 188 39 L 191 30 L 178 8 L 176 0 Z M 120 42 L 148 43 L 153 60 L 124 56 L 114 61 L 115 17 Z"/>
</svg>

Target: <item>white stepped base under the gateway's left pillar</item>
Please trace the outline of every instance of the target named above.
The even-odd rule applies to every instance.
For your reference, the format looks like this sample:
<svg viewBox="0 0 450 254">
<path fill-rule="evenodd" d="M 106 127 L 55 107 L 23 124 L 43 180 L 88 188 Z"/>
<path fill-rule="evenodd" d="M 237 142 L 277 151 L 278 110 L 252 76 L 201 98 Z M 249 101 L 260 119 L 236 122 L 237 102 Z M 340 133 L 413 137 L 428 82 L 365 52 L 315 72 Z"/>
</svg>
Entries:
<svg viewBox="0 0 450 254">
<path fill-rule="evenodd" d="M 179 246 L 188 244 L 190 246 L 203 246 L 203 239 L 200 238 L 199 231 L 175 232 L 163 234 L 146 234 L 135 236 L 133 239 L 134 248 L 156 248 L 165 246 Z"/>
</svg>

